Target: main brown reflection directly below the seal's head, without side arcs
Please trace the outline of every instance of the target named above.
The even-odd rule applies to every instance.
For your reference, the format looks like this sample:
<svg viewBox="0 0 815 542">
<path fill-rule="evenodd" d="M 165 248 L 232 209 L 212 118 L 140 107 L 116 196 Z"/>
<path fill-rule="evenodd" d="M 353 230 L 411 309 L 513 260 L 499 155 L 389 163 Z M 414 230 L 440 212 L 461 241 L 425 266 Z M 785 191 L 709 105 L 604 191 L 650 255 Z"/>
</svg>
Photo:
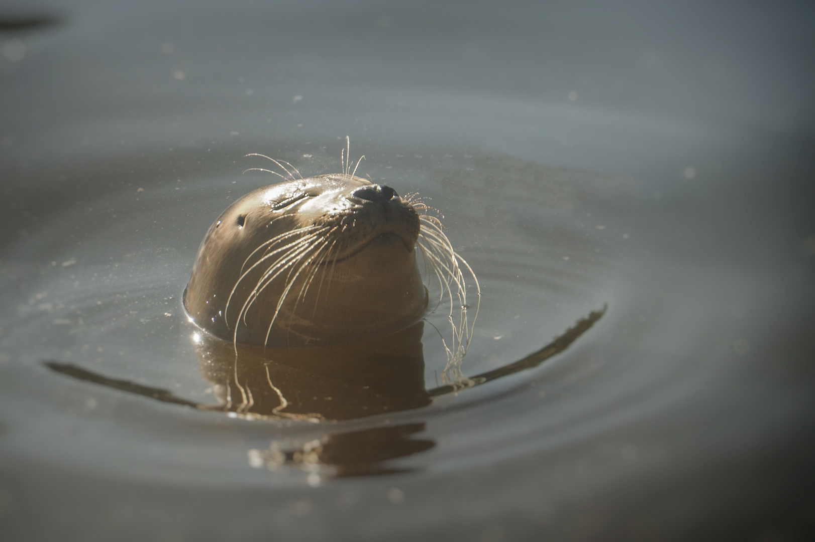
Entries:
<svg viewBox="0 0 815 542">
<path fill-rule="evenodd" d="M 395 334 L 314 348 L 235 348 L 194 334 L 200 373 L 218 400 L 206 408 L 317 422 L 423 407 L 430 404 L 423 328 L 419 321 Z"/>
</svg>

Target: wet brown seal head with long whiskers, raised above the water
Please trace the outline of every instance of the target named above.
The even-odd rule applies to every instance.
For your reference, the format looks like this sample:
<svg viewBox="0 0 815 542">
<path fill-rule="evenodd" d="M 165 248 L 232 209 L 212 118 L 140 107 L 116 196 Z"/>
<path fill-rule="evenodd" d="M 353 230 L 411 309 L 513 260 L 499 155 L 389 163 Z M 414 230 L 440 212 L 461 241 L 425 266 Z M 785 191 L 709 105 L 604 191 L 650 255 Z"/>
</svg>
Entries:
<svg viewBox="0 0 815 542">
<path fill-rule="evenodd" d="M 209 228 L 184 307 L 235 343 L 318 346 L 394 333 L 428 303 L 419 232 L 411 203 L 353 175 L 254 190 Z"/>
</svg>

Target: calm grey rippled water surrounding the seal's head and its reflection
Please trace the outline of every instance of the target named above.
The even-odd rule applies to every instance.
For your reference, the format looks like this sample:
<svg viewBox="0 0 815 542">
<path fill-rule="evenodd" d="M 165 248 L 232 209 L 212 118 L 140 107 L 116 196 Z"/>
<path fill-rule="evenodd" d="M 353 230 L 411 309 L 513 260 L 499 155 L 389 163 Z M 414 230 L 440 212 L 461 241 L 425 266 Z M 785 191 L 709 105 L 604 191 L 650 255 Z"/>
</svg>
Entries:
<svg viewBox="0 0 815 542">
<path fill-rule="evenodd" d="M 738 72 L 751 50 L 700 60 L 725 78 L 714 92 L 682 78 L 697 51 L 678 31 L 643 52 L 641 34 L 619 37 L 623 21 L 597 10 L 187 8 L 43 4 L 61 22 L 20 34 L 23 59 L 6 54 L 0 522 L 12 540 L 808 532 L 811 98 L 768 87 L 760 109 L 745 85 L 723 100 L 753 81 Z M 585 42 L 537 37 L 529 20 Z M 705 24 L 701 42 L 725 43 Z M 515 28 L 506 42 L 491 33 Z M 606 43 L 616 75 L 572 75 Z M 811 77 L 792 75 L 796 58 L 773 68 L 782 89 Z M 606 313 L 538 368 L 340 422 L 229 417 L 43 364 L 216 403 L 181 304 L 200 239 L 274 181 L 242 174 L 258 165 L 245 154 L 337 172 L 346 134 L 360 173 L 430 198 L 478 275 L 465 374 Z M 432 389 L 446 357 L 424 331 L 414 376 Z"/>
</svg>

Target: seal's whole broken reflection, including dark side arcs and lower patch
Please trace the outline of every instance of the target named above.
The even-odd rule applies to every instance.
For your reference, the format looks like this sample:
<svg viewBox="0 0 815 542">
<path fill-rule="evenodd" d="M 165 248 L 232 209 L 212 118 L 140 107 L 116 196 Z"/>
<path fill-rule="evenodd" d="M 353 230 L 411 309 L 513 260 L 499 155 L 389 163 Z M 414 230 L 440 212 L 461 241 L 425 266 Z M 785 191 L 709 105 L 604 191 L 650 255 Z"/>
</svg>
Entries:
<svg viewBox="0 0 815 542">
<path fill-rule="evenodd" d="M 543 348 L 509 365 L 477 374 L 474 387 L 531 369 L 563 352 L 597 322 L 606 308 L 589 313 Z M 104 377 L 77 365 L 45 361 L 57 373 L 119 391 L 194 409 L 226 412 L 232 417 L 339 422 L 384 413 L 421 409 L 435 397 L 460 391 L 445 385 L 425 389 L 422 347 L 424 321 L 398 333 L 357 343 L 314 348 L 262 348 L 233 345 L 209 334 L 192 336 L 200 374 L 214 389 L 217 403 L 200 404 L 170 391 Z M 297 466 L 326 477 L 406 472 L 387 461 L 425 452 L 430 439 L 413 439 L 424 422 L 339 431 L 292 449 L 272 444 L 250 450 L 253 466 Z"/>
</svg>

